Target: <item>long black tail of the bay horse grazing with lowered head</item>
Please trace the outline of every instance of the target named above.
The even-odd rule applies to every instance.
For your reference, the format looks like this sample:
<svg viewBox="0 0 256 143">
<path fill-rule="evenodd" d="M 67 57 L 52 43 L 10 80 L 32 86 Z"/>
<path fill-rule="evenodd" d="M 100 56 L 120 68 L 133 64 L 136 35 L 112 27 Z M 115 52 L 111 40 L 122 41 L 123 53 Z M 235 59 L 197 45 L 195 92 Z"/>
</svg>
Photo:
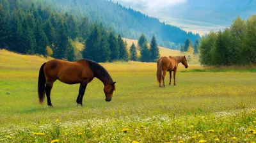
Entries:
<svg viewBox="0 0 256 143">
<path fill-rule="evenodd" d="M 44 75 L 44 66 L 46 63 L 42 64 L 39 75 L 38 75 L 38 86 L 37 86 L 37 92 L 38 92 L 38 98 L 39 98 L 39 103 L 44 103 L 44 97 L 45 97 L 45 75 Z"/>
</svg>

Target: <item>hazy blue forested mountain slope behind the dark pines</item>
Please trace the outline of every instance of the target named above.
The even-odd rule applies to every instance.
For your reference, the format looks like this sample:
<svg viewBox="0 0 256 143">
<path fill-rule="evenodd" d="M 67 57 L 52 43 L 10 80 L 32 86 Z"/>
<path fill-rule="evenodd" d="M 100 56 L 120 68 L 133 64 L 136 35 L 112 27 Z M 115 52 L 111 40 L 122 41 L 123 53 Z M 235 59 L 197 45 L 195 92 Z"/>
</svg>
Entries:
<svg viewBox="0 0 256 143">
<path fill-rule="evenodd" d="M 106 0 L 34 0 L 36 4 L 52 6 L 61 13 L 72 12 L 76 17 L 88 17 L 92 22 L 113 29 L 125 38 L 138 39 L 143 33 L 148 41 L 155 34 L 158 45 L 170 49 L 179 49 L 188 37 L 193 43 L 200 39 L 199 34 L 159 22 L 140 11 L 125 8 L 117 3 Z"/>
</svg>

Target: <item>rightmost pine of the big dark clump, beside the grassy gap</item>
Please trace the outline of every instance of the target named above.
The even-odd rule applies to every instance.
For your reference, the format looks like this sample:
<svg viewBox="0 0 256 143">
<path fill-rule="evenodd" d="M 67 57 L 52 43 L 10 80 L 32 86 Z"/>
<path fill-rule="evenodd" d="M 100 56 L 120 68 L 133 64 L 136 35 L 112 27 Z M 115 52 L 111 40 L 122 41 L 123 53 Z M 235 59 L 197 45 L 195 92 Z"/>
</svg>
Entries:
<svg viewBox="0 0 256 143">
<path fill-rule="evenodd" d="M 118 49 L 119 49 L 119 59 L 121 61 L 128 61 L 128 52 L 126 49 L 127 43 L 126 41 L 124 42 L 122 40 L 122 37 L 120 34 L 118 35 L 117 42 L 118 42 Z"/>
</svg>

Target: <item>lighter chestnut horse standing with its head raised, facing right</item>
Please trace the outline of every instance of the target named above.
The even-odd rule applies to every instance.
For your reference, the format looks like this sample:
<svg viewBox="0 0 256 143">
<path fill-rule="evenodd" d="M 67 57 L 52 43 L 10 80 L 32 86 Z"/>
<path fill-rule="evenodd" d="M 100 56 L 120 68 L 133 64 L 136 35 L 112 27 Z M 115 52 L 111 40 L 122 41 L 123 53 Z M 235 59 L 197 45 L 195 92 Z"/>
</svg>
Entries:
<svg viewBox="0 0 256 143">
<path fill-rule="evenodd" d="M 176 72 L 177 72 L 179 63 L 182 63 L 185 66 L 185 68 L 188 68 L 188 63 L 187 63 L 187 59 L 185 56 L 160 57 L 157 60 L 156 77 L 157 77 L 157 82 L 159 83 L 159 87 L 162 87 L 161 86 L 162 79 L 163 79 L 163 87 L 165 87 L 164 77 L 166 75 L 166 72 L 170 73 L 169 85 L 171 84 L 172 71 L 173 71 L 174 86 L 176 86 L 175 76 L 176 76 Z M 162 70 L 163 70 L 163 75 L 162 75 Z"/>
</svg>

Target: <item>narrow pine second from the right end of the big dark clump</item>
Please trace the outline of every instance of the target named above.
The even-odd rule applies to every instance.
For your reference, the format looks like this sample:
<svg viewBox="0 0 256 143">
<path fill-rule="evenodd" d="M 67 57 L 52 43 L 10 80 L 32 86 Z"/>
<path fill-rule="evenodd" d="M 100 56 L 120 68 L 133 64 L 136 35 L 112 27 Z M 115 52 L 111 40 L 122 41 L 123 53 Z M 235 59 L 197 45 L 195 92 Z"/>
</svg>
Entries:
<svg viewBox="0 0 256 143">
<path fill-rule="evenodd" d="M 118 60 L 118 56 L 119 56 L 118 43 L 117 43 L 117 38 L 115 36 L 115 33 L 113 31 L 111 31 L 111 33 L 109 34 L 108 43 L 109 43 L 109 49 L 111 51 L 109 60 L 110 61 Z"/>
</svg>

